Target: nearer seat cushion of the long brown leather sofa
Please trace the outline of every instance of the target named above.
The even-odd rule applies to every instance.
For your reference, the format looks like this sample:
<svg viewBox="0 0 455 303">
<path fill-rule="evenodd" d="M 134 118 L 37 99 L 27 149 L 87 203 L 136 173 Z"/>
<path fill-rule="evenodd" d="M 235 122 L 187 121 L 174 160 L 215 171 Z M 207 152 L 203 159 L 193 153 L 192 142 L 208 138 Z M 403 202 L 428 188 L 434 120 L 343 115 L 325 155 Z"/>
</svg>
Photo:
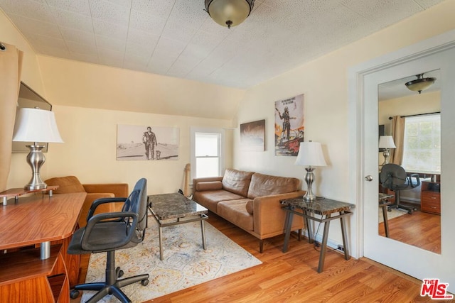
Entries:
<svg viewBox="0 0 455 303">
<path fill-rule="evenodd" d="M 248 213 L 246 208 L 248 201 L 250 199 L 220 202 L 218 203 L 218 215 L 246 231 L 253 231 L 253 216 Z"/>
</svg>

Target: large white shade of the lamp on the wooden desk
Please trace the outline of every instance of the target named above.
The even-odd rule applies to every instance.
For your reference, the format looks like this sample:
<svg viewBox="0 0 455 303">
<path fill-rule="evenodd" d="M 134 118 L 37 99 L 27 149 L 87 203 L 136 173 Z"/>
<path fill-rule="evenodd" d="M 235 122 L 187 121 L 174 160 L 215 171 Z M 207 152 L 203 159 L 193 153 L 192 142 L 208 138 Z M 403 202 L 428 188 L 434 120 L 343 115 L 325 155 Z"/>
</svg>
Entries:
<svg viewBox="0 0 455 303">
<path fill-rule="evenodd" d="M 53 111 L 27 108 L 16 115 L 13 141 L 63 143 Z"/>
</svg>

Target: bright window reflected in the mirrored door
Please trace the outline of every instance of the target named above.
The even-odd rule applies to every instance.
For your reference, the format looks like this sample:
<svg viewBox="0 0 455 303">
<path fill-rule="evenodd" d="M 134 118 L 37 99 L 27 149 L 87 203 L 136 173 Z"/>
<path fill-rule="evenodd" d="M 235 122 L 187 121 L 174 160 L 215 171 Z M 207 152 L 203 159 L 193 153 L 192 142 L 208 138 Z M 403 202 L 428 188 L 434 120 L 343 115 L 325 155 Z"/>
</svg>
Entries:
<svg viewBox="0 0 455 303">
<path fill-rule="evenodd" d="M 405 118 L 402 166 L 410 172 L 441 173 L 441 115 Z"/>
</svg>

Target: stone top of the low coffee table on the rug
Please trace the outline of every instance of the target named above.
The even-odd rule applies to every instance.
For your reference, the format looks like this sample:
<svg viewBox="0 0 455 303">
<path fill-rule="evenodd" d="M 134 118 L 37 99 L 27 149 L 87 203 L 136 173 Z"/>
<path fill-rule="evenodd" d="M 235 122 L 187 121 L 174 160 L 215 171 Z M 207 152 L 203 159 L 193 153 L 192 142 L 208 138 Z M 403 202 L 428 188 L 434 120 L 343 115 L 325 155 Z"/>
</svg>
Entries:
<svg viewBox="0 0 455 303">
<path fill-rule="evenodd" d="M 151 212 L 159 220 L 178 219 L 186 216 L 207 214 L 208 209 L 178 192 L 149 195 Z"/>
</svg>

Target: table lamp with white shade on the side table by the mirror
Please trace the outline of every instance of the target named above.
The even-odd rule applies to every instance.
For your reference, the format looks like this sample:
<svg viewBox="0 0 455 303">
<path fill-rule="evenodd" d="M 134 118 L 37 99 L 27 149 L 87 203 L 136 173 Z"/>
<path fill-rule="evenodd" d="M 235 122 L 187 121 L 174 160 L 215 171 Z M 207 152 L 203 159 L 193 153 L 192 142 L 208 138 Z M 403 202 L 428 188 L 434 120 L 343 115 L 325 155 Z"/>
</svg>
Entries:
<svg viewBox="0 0 455 303">
<path fill-rule="evenodd" d="M 316 194 L 313 194 L 311 185 L 314 182 L 314 169 L 315 166 L 326 166 L 326 160 L 322 153 L 321 143 L 318 142 L 301 142 L 299 155 L 297 155 L 295 165 L 305 165 L 306 175 L 306 193 L 304 195 L 305 202 L 314 202 Z"/>
</svg>

